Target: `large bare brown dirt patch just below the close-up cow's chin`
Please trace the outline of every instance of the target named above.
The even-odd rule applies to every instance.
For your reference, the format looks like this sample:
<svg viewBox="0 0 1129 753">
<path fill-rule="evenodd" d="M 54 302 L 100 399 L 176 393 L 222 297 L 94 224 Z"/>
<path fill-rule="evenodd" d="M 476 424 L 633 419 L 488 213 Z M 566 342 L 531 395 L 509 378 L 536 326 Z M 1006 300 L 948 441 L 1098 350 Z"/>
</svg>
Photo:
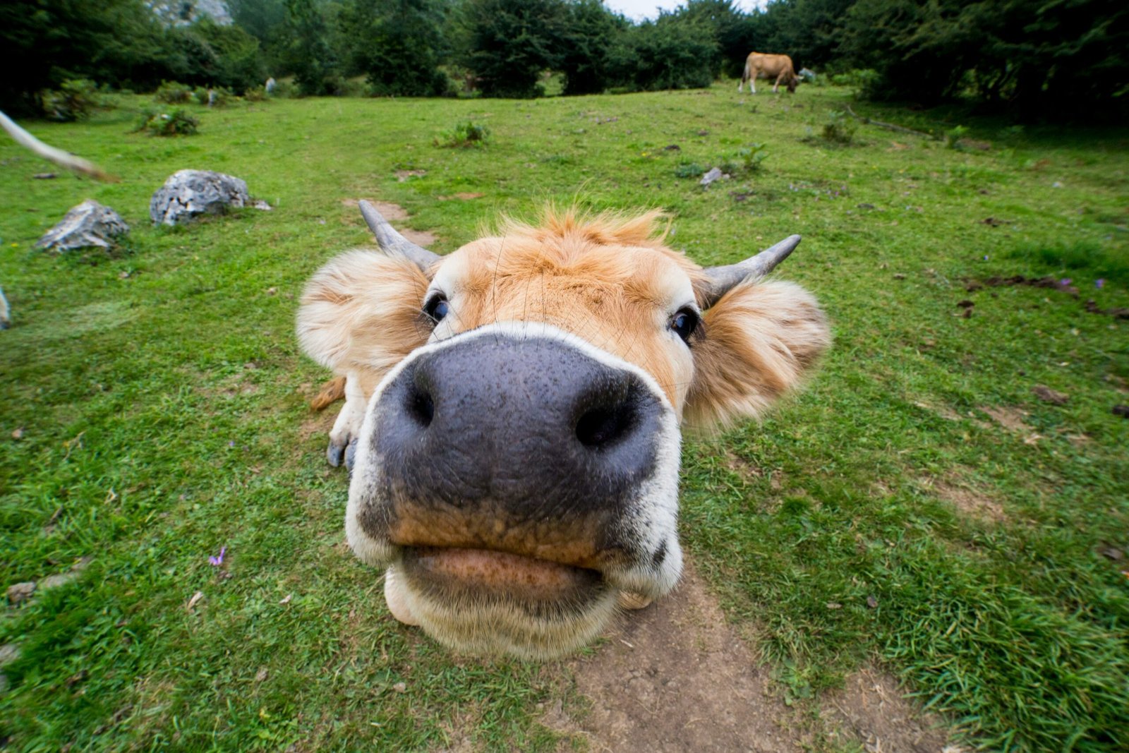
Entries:
<svg viewBox="0 0 1129 753">
<path fill-rule="evenodd" d="M 796 750 L 794 712 L 768 692 L 768 669 L 693 571 L 569 668 L 590 710 L 572 720 L 558 706 L 543 723 L 592 751 Z"/>
</svg>

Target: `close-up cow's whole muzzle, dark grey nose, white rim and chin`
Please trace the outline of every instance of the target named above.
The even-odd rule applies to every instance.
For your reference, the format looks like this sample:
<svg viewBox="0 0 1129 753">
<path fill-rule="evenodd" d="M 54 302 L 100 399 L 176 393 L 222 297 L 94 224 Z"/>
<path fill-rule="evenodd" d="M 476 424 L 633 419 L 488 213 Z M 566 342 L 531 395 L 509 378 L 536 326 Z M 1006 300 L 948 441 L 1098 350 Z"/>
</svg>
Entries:
<svg viewBox="0 0 1129 753">
<path fill-rule="evenodd" d="M 679 578 L 675 411 L 638 367 L 501 323 L 414 351 L 369 402 L 345 529 L 399 618 L 457 649 L 549 657 L 621 592 Z"/>
</svg>

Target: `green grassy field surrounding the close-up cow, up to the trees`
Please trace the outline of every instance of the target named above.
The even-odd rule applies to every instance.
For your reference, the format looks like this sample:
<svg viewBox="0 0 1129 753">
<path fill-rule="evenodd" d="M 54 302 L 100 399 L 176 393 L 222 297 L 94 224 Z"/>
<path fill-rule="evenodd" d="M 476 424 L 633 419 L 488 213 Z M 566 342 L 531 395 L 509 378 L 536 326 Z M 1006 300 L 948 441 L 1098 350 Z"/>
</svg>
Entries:
<svg viewBox="0 0 1129 753">
<path fill-rule="evenodd" d="M 703 263 L 802 233 L 781 272 L 825 304 L 835 347 L 769 420 L 686 443 L 698 571 L 789 700 L 879 664 L 973 744 L 1129 747 L 1129 421 L 1111 412 L 1129 324 L 1086 306 L 1129 306 L 1129 131 L 965 121 L 990 148 L 947 149 L 860 125 L 839 146 L 821 134 L 848 91 L 735 88 L 240 104 L 178 139 L 132 133 L 137 98 L 30 125 L 116 184 L 32 180 L 46 164 L 0 142 L 0 586 L 90 558 L 0 616 L 20 650 L 0 747 L 583 747 L 539 721 L 562 665 L 450 657 L 392 620 L 343 544 L 333 417 L 306 406 L 326 374 L 292 323 L 308 275 L 368 243 L 357 198 L 403 205 L 439 252 L 550 199 L 664 207 Z M 464 120 L 491 143 L 432 145 Z M 752 142 L 760 170 L 677 177 Z M 151 228 L 150 194 L 186 167 L 274 210 Z M 36 252 L 86 198 L 133 226 L 124 251 Z M 1070 282 L 975 289 L 1017 274 Z"/>
</svg>

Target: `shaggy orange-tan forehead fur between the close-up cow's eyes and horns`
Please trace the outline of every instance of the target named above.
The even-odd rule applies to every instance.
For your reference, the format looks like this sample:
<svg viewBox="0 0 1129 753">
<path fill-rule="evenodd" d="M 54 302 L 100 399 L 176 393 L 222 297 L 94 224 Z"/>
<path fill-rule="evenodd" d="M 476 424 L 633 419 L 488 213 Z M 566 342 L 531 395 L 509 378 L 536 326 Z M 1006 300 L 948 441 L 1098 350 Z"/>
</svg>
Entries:
<svg viewBox="0 0 1129 753">
<path fill-rule="evenodd" d="M 692 362 L 665 323 L 694 303 L 702 273 L 663 244 L 662 217 L 567 210 L 536 226 L 504 221 L 440 263 L 431 289 L 452 304 L 441 334 L 499 321 L 552 324 L 640 366 L 679 405 Z"/>
</svg>

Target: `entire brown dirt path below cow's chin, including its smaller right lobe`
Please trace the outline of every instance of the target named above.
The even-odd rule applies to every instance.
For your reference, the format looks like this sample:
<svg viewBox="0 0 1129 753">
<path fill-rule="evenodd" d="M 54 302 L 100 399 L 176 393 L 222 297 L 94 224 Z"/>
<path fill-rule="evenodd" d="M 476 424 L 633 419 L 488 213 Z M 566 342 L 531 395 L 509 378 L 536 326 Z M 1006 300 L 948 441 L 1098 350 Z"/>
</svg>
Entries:
<svg viewBox="0 0 1129 753">
<path fill-rule="evenodd" d="M 786 706 L 769 669 L 726 622 L 689 570 L 677 590 L 619 620 L 592 656 L 563 664 L 587 700 L 570 717 L 560 702 L 542 721 L 615 753 L 797 753 L 861 743 L 869 753 L 957 753 L 938 720 L 870 668 L 830 693 L 821 713 Z"/>
</svg>

